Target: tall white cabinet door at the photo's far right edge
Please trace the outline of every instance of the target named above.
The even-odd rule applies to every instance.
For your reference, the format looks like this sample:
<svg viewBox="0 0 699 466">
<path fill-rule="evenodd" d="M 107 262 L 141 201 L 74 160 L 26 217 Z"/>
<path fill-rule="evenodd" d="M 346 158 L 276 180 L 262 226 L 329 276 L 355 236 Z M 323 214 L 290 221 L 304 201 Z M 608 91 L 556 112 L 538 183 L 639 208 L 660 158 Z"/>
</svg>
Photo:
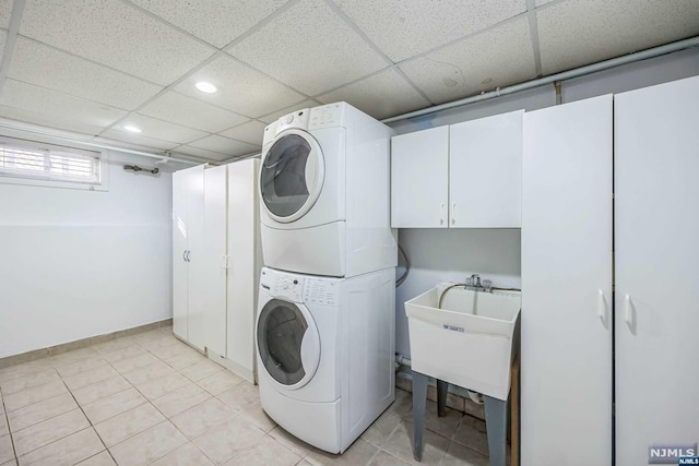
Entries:
<svg viewBox="0 0 699 466">
<path fill-rule="evenodd" d="M 699 435 L 697 103 L 699 77 L 615 96 L 618 466 Z"/>
</svg>

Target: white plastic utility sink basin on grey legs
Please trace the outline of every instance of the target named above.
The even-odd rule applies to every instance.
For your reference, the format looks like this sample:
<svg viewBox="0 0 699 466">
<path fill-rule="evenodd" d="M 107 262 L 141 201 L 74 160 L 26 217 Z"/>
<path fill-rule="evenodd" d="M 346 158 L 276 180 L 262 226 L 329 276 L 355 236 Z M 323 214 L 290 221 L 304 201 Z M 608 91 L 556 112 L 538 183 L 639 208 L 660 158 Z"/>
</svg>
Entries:
<svg viewBox="0 0 699 466">
<path fill-rule="evenodd" d="M 506 401 L 519 347 L 519 291 L 471 291 L 442 284 L 405 302 L 412 369 Z M 514 343 L 514 344 L 513 344 Z"/>
</svg>

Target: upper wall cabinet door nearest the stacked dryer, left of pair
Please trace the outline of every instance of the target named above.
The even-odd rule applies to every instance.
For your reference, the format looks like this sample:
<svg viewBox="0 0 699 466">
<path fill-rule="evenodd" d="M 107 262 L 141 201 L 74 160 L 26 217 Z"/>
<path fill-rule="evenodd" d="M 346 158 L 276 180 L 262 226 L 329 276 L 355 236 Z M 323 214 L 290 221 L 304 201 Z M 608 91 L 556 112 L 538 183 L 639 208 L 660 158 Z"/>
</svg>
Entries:
<svg viewBox="0 0 699 466">
<path fill-rule="evenodd" d="M 449 127 L 391 139 L 391 227 L 447 228 Z"/>
</svg>

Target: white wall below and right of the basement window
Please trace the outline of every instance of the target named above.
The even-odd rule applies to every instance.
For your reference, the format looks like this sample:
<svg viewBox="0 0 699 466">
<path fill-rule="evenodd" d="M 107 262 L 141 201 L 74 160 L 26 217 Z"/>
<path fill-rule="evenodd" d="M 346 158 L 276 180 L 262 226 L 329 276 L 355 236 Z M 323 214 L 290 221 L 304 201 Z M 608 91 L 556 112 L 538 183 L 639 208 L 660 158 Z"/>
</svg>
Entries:
<svg viewBox="0 0 699 466">
<path fill-rule="evenodd" d="M 171 316 L 171 175 L 107 157 L 107 192 L 0 183 L 0 358 Z"/>
</svg>

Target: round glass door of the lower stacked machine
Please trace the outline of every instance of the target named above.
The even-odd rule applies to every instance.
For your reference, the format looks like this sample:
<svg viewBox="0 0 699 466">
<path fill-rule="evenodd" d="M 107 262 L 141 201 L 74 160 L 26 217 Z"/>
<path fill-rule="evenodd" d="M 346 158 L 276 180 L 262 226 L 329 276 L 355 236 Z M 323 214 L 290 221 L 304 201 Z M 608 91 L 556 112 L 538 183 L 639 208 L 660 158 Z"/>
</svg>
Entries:
<svg viewBox="0 0 699 466">
<path fill-rule="evenodd" d="M 258 316 L 258 351 L 266 373 L 284 389 L 306 385 L 320 362 L 320 337 L 308 310 L 269 301 Z"/>
</svg>

